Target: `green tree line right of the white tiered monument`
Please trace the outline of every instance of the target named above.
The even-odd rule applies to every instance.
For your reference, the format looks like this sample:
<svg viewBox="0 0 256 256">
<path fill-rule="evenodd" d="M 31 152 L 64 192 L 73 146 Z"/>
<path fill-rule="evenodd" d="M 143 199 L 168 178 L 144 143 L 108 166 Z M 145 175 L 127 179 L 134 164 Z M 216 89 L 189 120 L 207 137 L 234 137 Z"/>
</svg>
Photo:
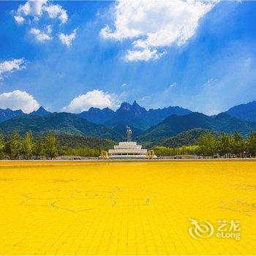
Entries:
<svg viewBox="0 0 256 256">
<path fill-rule="evenodd" d="M 157 156 L 175 156 L 179 154 L 195 154 L 202 157 L 256 157 L 256 133 L 251 132 L 243 138 L 238 132 L 233 135 L 222 133 L 214 135 L 211 132 L 201 135 L 196 145 L 169 148 L 154 147 Z"/>
</svg>

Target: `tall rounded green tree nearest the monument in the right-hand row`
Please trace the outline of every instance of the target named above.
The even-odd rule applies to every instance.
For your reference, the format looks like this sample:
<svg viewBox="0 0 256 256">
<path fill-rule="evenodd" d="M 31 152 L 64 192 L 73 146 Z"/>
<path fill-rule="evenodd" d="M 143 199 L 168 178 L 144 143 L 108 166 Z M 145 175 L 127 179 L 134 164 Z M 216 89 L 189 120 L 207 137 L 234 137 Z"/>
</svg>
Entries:
<svg viewBox="0 0 256 256">
<path fill-rule="evenodd" d="M 198 146 L 203 156 L 214 157 L 215 154 L 219 153 L 219 140 L 210 132 L 198 138 Z"/>
</svg>

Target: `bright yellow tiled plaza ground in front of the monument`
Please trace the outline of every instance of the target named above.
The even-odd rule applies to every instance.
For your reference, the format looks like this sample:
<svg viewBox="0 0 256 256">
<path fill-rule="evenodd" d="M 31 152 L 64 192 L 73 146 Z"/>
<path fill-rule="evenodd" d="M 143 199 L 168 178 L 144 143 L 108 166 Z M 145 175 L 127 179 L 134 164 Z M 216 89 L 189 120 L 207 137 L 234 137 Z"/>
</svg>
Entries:
<svg viewBox="0 0 256 256">
<path fill-rule="evenodd" d="M 0 162 L 0 255 L 256 255 L 255 189 L 256 162 Z"/>
</svg>

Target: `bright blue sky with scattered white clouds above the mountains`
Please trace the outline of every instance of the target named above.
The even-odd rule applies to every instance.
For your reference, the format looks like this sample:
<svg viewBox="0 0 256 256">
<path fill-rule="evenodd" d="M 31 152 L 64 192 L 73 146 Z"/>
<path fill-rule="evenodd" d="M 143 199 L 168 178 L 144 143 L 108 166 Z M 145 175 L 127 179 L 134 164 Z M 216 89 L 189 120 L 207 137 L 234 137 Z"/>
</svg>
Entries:
<svg viewBox="0 0 256 256">
<path fill-rule="evenodd" d="M 0 1 L 0 108 L 256 99 L 256 1 Z"/>
</svg>

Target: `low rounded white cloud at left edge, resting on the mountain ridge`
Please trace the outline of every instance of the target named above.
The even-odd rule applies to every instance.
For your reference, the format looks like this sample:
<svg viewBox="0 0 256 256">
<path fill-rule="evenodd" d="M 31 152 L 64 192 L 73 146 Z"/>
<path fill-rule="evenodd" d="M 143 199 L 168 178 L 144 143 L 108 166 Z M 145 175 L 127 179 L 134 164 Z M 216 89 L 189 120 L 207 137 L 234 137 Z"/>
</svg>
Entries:
<svg viewBox="0 0 256 256">
<path fill-rule="evenodd" d="M 21 109 L 24 113 L 30 113 L 33 110 L 37 110 L 39 104 L 26 91 L 15 90 L 0 94 L 0 108 Z"/>
</svg>

